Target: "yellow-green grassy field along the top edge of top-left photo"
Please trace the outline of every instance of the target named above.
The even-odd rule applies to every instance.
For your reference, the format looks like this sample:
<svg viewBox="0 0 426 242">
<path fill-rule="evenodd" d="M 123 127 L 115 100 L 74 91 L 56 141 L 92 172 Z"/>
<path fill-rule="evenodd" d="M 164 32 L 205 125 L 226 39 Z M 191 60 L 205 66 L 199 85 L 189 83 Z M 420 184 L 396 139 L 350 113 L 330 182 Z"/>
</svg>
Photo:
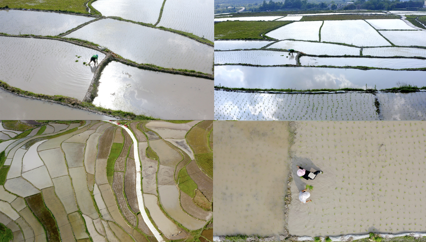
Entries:
<svg viewBox="0 0 426 242">
<path fill-rule="evenodd" d="M 2 0 L 2 6 L 88 14 L 86 2 L 87 0 Z"/>
</svg>

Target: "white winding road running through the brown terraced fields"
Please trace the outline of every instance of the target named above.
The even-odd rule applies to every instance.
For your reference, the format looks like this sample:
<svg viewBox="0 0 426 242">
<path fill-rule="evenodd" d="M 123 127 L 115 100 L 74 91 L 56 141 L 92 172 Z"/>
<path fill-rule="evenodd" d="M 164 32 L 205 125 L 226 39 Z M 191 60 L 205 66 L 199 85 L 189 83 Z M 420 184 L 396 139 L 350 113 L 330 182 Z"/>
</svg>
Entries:
<svg viewBox="0 0 426 242">
<path fill-rule="evenodd" d="M 114 125 L 118 125 L 117 122 L 114 121 L 106 121 L 106 122 L 110 122 Z M 145 211 L 145 206 L 144 206 L 144 198 L 142 196 L 142 192 L 141 192 L 141 161 L 139 160 L 139 152 L 138 152 L 138 146 L 135 144 L 138 144 L 138 140 L 136 140 L 135 135 L 132 133 L 132 131 L 130 131 L 129 128 L 125 127 L 124 125 L 118 125 L 121 128 L 123 128 L 127 134 L 130 135 L 130 137 L 132 138 L 133 141 L 133 153 L 134 153 L 134 158 L 135 158 L 135 167 L 136 167 L 136 195 L 138 198 L 138 205 L 139 205 L 139 210 L 141 211 L 142 214 L 142 218 L 144 219 L 145 224 L 148 225 L 148 227 L 150 228 L 151 232 L 154 234 L 155 239 L 158 240 L 158 242 L 165 242 L 163 237 L 161 237 L 160 233 L 155 229 L 153 223 L 151 222 L 151 220 L 148 218 L 147 212 Z"/>
</svg>

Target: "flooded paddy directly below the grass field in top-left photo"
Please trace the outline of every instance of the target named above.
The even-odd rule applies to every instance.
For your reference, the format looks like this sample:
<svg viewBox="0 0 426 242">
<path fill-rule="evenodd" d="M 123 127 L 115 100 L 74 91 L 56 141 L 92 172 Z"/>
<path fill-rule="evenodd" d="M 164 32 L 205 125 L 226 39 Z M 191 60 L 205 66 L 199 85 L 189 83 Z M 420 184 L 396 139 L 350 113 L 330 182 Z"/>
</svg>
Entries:
<svg viewBox="0 0 426 242">
<path fill-rule="evenodd" d="M 95 18 L 62 13 L 0 10 L 0 19 L 0 33 L 55 36 Z"/>
</svg>

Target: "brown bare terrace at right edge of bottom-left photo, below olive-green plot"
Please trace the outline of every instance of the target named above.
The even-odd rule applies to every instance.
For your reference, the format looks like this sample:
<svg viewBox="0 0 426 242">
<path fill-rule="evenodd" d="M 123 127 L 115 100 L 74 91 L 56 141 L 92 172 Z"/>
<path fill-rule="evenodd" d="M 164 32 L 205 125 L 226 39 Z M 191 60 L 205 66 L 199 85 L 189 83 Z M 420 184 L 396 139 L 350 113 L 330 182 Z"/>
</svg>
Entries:
<svg viewBox="0 0 426 242">
<path fill-rule="evenodd" d="M 211 202 L 213 199 L 213 179 L 201 171 L 195 160 L 192 160 L 186 168 L 190 178 L 197 184 L 198 189 Z"/>
</svg>

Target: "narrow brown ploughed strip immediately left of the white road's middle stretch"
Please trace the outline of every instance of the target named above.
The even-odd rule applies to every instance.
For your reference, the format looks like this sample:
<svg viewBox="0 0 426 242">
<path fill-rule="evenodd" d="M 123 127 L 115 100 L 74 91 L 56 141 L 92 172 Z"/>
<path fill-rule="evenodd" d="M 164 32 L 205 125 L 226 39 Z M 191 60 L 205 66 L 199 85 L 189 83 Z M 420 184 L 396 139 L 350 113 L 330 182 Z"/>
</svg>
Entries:
<svg viewBox="0 0 426 242">
<path fill-rule="evenodd" d="M 136 195 L 136 167 L 135 160 L 131 158 L 127 158 L 126 173 L 124 174 L 124 192 L 130 208 L 134 213 L 138 213 L 139 206 Z"/>
</svg>

